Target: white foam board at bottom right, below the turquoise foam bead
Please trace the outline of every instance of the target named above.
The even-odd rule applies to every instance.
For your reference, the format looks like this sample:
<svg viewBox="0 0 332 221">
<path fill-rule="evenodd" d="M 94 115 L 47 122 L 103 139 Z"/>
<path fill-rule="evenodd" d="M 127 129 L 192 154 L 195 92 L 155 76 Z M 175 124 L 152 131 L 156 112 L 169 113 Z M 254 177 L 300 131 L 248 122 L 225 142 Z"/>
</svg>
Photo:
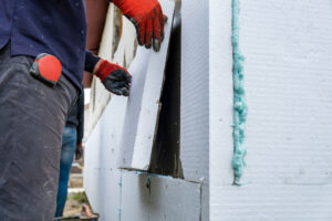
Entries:
<svg viewBox="0 0 332 221">
<path fill-rule="evenodd" d="M 218 221 L 330 221 L 331 185 L 250 185 L 219 188 Z"/>
</svg>

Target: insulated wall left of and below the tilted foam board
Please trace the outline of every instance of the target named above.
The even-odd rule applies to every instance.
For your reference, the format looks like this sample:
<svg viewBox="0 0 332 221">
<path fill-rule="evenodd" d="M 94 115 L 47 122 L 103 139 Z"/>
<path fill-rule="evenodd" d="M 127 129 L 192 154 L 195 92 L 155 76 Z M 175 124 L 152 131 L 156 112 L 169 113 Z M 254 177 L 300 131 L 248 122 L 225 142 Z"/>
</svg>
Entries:
<svg viewBox="0 0 332 221">
<path fill-rule="evenodd" d="M 122 39 L 113 56 L 112 10 L 113 6 L 108 10 L 100 54 L 128 65 L 135 53 L 135 44 L 132 43 L 135 30 L 123 19 Z M 94 80 L 91 98 L 84 188 L 93 210 L 101 214 L 100 220 L 200 221 L 201 182 L 117 169 L 127 98 L 112 96 L 108 102 L 110 93 L 98 80 Z"/>
</svg>

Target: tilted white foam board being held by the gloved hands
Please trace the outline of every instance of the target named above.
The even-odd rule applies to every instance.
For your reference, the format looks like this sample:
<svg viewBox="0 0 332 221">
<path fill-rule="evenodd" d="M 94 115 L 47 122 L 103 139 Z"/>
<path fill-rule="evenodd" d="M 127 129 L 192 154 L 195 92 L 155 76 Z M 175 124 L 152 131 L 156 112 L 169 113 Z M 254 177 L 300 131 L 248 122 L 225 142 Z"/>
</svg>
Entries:
<svg viewBox="0 0 332 221">
<path fill-rule="evenodd" d="M 129 67 L 133 80 L 125 114 L 118 168 L 146 170 L 149 165 L 175 7 L 174 1 L 170 0 L 162 0 L 160 4 L 164 14 L 169 19 L 165 24 L 165 38 L 160 51 L 138 48 Z"/>
</svg>

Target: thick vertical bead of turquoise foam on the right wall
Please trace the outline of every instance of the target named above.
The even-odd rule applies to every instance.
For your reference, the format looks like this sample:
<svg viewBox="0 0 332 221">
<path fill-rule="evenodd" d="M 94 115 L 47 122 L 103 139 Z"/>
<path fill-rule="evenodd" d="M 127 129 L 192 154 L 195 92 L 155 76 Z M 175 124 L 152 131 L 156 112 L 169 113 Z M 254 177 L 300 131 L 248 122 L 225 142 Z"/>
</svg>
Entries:
<svg viewBox="0 0 332 221">
<path fill-rule="evenodd" d="M 243 55 L 239 49 L 239 0 L 232 0 L 232 76 L 234 76 L 234 157 L 232 168 L 235 185 L 241 185 L 240 179 L 246 167 L 245 126 L 248 107 L 243 86 Z"/>
</svg>

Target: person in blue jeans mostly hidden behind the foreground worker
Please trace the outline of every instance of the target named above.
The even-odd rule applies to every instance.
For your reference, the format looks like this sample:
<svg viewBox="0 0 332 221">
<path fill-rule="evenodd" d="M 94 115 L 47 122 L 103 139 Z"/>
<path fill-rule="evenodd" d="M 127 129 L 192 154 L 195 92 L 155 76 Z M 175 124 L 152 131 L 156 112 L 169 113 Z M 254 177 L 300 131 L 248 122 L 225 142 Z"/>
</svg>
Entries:
<svg viewBox="0 0 332 221">
<path fill-rule="evenodd" d="M 82 85 L 83 88 L 83 85 Z M 65 127 L 62 135 L 62 148 L 60 157 L 59 189 L 56 197 L 55 218 L 63 215 L 63 210 L 68 196 L 68 183 L 71 173 L 74 156 L 77 159 L 83 154 L 84 135 L 84 91 L 77 97 L 66 116 Z"/>
</svg>

